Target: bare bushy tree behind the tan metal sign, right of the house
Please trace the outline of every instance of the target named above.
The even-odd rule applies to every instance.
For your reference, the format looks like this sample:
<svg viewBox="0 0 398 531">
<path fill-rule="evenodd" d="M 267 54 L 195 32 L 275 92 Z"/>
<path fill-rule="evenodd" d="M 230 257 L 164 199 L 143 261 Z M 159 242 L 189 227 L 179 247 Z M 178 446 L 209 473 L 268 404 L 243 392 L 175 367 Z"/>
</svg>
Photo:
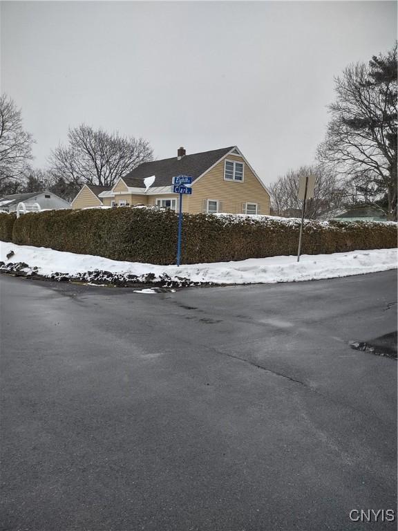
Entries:
<svg viewBox="0 0 398 531">
<path fill-rule="evenodd" d="M 298 170 L 290 170 L 285 176 L 279 177 L 269 187 L 272 207 L 277 216 L 299 216 L 303 201 L 297 198 L 301 176 L 316 176 L 314 198 L 306 201 L 304 215 L 316 218 L 323 212 L 331 214 L 343 201 L 345 192 L 339 187 L 336 176 L 321 166 L 302 166 Z"/>
</svg>

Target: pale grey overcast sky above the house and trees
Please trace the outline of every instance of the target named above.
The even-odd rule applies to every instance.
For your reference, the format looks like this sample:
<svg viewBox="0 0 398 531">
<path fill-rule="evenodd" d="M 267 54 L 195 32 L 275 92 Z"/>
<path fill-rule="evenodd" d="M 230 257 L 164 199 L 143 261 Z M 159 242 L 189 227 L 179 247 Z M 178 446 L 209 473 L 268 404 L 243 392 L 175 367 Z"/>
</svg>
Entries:
<svg viewBox="0 0 398 531">
<path fill-rule="evenodd" d="M 314 161 L 334 75 L 396 35 L 395 1 L 1 2 L 1 91 L 36 167 L 85 122 L 155 158 L 237 145 L 271 183 Z"/>
</svg>

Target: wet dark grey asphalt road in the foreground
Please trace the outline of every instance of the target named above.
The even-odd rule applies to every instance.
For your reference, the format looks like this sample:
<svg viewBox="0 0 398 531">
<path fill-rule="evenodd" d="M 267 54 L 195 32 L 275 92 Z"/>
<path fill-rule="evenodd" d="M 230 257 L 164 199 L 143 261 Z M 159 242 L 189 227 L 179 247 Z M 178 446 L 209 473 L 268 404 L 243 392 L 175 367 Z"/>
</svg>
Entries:
<svg viewBox="0 0 398 531">
<path fill-rule="evenodd" d="M 1 530 L 395 529 L 396 284 L 1 277 Z"/>
</svg>

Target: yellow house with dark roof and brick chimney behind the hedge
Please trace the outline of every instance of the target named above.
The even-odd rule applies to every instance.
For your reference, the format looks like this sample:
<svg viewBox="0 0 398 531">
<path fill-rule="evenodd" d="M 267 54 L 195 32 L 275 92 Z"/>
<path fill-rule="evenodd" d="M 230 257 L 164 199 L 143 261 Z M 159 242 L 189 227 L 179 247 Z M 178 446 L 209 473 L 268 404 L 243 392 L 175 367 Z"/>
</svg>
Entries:
<svg viewBox="0 0 398 531">
<path fill-rule="evenodd" d="M 171 180 L 191 176 L 192 194 L 182 201 L 184 212 L 198 214 L 269 214 L 269 192 L 236 146 L 187 155 L 180 147 L 173 158 L 144 162 L 109 189 L 85 185 L 73 208 L 157 205 L 176 210 L 178 194 Z"/>
</svg>

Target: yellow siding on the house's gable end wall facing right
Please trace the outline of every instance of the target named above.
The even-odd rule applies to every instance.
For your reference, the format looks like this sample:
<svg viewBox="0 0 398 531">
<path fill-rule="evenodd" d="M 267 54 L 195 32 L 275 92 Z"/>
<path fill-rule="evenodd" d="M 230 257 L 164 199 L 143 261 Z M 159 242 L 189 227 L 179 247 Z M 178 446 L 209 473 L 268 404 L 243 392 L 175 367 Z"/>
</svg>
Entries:
<svg viewBox="0 0 398 531">
<path fill-rule="evenodd" d="M 225 159 L 237 160 L 244 164 L 243 181 L 225 180 Z M 207 174 L 202 176 L 197 183 L 192 185 L 192 195 L 189 196 L 187 211 L 192 214 L 203 212 L 204 202 L 207 199 L 216 199 L 221 202 L 221 212 L 229 214 L 243 214 L 245 203 L 259 205 L 258 214 L 269 214 L 269 194 L 258 181 L 253 171 L 242 157 L 227 155 Z"/>
</svg>

